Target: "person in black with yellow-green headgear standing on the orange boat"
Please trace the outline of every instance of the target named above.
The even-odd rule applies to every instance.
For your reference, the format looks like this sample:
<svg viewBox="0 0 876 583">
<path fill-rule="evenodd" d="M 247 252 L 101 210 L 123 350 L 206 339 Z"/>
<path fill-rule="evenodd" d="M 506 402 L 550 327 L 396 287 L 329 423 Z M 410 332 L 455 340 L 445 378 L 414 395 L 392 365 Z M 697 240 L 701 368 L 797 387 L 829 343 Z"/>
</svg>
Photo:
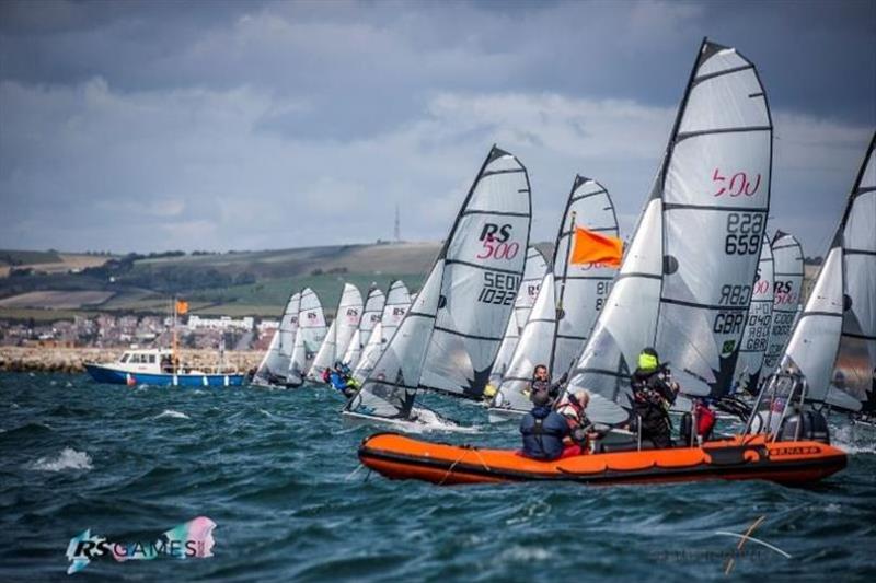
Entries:
<svg viewBox="0 0 876 583">
<path fill-rule="evenodd" d="M 631 385 L 633 396 L 630 404 L 642 439 L 650 440 L 658 448 L 671 447 L 669 407 L 676 401 L 679 387 L 653 348 L 644 349 L 638 355 L 638 368 L 633 373 Z"/>
</svg>

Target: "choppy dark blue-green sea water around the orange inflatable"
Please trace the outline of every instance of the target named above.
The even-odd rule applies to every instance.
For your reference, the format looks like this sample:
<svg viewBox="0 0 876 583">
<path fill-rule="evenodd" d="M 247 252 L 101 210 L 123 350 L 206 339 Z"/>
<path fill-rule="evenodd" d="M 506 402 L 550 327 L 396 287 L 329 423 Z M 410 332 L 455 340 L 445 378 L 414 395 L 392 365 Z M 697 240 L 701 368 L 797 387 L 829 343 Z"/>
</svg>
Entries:
<svg viewBox="0 0 876 583">
<path fill-rule="evenodd" d="M 439 439 L 516 445 L 512 425 Z M 150 540 L 212 518 L 216 556 L 116 563 L 82 580 L 815 581 L 876 579 L 876 435 L 834 434 L 849 468 L 815 489 L 768 482 L 437 488 L 365 481 L 327 389 L 169 389 L 85 376 L 0 375 L 0 580 L 68 580 L 85 528 Z M 741 533 L 792 556 L 746 547 Z"/>
</svg>

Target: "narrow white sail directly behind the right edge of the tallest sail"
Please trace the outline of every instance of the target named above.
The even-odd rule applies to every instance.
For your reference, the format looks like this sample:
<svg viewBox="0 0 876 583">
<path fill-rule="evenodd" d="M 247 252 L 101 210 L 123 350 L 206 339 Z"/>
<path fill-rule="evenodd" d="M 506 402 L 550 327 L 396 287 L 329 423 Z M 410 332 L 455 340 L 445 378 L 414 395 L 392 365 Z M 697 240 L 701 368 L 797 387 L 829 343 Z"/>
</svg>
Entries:
<svg viewBox="0 0 876 583">
<path fill-rule="evenodd" d="M 770 341 L 773 312 L 773 254 L 764 237 L 760 249 L 758 279 L 751 291 L 751 305 L 742 331 L 742 346 L 736 361 L 734 381 L 739 390 L 756 393 L 761 378 L 763 353 Z"/>
</svg>

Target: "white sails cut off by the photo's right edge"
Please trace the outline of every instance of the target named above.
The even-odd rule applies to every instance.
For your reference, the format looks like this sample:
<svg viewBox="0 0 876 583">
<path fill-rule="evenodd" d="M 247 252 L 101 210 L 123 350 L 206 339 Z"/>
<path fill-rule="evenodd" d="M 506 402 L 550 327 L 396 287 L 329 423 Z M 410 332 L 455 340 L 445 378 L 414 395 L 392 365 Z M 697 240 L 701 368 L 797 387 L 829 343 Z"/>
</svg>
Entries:
<svg viewBox="0 0 876 583">
<path fill-rule="evenodd" d="M 854 389 L 863 400 L 876 366 L 876 168 L 871 140 L 861 171 L 855 178 L 830 252 L 818 272 L 812 291 L 794 326 L 781 366 L 799 371 L 808 385 L 807 400 L 830 400 L 831 384 Z M 834 376 L 840 363 L 840 338 L 846 350 L 862 342 L 866 352 L 843 363 L 852 374 Z M 851 342 L 848 342 L 850 341 Z M 851 351 L 851 350 L 850 350 Z M 866 359 L 866 360 L 865 360 Z M 860 370 L 860 373 L 854 371 Z M 841 371 L 842 372 L 842 371 Z M 860 375 L 860 377 L 858 377 Z"/>
</svg>

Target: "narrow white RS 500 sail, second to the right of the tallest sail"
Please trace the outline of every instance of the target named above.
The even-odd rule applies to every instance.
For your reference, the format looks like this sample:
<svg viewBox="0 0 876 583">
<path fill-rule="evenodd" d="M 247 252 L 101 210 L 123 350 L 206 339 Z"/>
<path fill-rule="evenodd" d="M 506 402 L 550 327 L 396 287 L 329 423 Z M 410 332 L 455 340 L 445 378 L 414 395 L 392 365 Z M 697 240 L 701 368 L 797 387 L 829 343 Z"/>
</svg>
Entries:
<svg viewBox="0 0 876 583">
<path fill-rule="evenodd" d="M 803 300 L 803 247 L 793 235 L 779 231 L 773 237 L 772 248 L 773 322 L 763 354 L 764 373 L 771 373 L 779 366 Z"/>
</svg>

